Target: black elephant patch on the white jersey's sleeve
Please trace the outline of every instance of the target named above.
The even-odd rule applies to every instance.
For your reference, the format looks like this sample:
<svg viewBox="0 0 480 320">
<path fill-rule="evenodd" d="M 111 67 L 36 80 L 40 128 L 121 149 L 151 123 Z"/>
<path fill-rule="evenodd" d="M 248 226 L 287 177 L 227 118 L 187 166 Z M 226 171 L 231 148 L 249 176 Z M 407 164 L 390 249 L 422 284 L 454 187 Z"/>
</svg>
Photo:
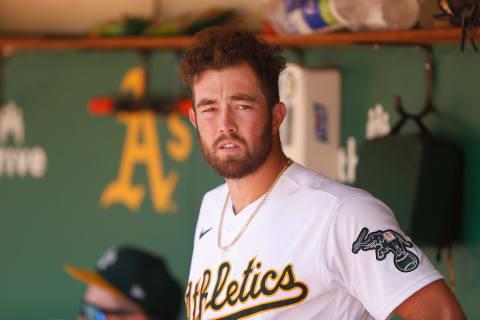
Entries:
<svg viewBox="0 0 480 320">
<path fill-rule="evenodd" d="M 384 260 L 391 252 L 395 267 L 402 272 L 410 272 L 417 269 L 418 257 L 407 248 L 413 244 L 405 240 L 399 233 L 393 230 L 378 230 L 368 233 L 368 228 L 363 228 L 358 234 L 357 240 L 352 244 L 352 252 L 357 254 L 363 251 L 375 250 L 378 261 Z"/>
</svg>

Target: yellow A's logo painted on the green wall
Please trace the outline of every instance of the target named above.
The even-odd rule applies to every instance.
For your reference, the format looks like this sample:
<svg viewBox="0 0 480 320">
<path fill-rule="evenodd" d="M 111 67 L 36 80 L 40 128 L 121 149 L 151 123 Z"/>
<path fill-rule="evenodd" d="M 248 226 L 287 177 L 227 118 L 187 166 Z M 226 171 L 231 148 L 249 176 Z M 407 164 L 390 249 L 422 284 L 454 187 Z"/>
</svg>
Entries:
<svg viewBox="0 0 480 320">
<path fill-rule="evenodd" d="M 129 70 L 123 78 L 121 90 L 132 92 L 136 98 L 142 97 L 145 93 L 144 70 Z M 109 207 L 113 203 L 121 203 L 130 210 L 138 210 L 146 191 L 144 185 L 132 185 L 132 179 L 135 166 L 145 165 L 153 207 L 159 213 L 176 212 L 178 207 L 172 196 L 179 173 L 176 170 L 165 172 L 155 114 L 152 111 L 123 112 L 117 118 L 126 125 L 122 159 L 117 179 L 103 190 L 101 205 Z M 177 114 L 168 116 L 167 127 L 174 137 L 166 143 L 168 155 L 177 162 L 187 160 L 192 151 L 189 128 Z"/>
</svg>

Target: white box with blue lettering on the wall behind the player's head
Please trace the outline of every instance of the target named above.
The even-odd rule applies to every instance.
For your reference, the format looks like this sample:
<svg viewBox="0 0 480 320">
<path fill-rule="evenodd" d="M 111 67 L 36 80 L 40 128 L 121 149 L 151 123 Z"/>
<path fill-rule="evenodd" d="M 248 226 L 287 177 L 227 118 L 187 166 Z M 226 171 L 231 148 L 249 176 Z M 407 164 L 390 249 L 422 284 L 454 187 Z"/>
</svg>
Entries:
<svg viewBox="0 0 480 320">
<path fill-rule="evenodd" d="M 338 178 L 341 76 L 335 69 L 288 63 L 279 80 L 287 116 L 280 127 L 285 154 L 329 178 Z"/>
</svg>

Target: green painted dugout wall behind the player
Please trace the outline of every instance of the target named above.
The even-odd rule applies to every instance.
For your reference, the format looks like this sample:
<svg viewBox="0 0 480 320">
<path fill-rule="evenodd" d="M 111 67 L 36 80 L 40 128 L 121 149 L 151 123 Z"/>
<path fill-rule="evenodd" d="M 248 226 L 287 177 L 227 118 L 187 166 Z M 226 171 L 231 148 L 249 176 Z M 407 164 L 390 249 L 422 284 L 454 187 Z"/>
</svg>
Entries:
<svg viewBox="0 0 480 320">
<path fill-rule="evenodd" d="M 285 54 L 296 61 L 293 52 Z M 476 306 L 480 295 L 478 58 L 470 48 L 464 53 L 457 46 L 434 48 L 436 110 L 426 121 L 434 134 L 457 143 L 465 152 L 462 239 L 453 253 L 456 294 L 472 319 L 480 317 Z M 152 94 L 185 93 L 176 62 L 172 52 L 153 53 Z M 407 111 L 423 106 L 424 54 L 414 47 L 309 49 L 304 64 L 341 71 L 344 146 L 348 137 L 355 137 L 358 144 L 365 140 L 367 110 L 375 104 L 383 104 L 392 123 L 398 120 L 394 95 L 402 96 Z M 139 66 L 140 56 L 129 51 L 30 51 L 4 60 L 1 105 L 13 101 L 15 110 L 21 110 L 24 138 L 2 138 L 0 128 L 0 160 L 4 161 L 0 319 L 75 319 L 84 286 L 66 275 L 63 265 L 93 267 L 115 244 L 134 244 L 161 253 L 185 284 L 202 195 L 222 182 L 204 162 L 187 118 L 157 117 L 149 131 L 146 125 L 142 127 L 156 134 L 155 159 L 162 163 L 157 183 L 167 188 L 161 182 L 169 174 L 176 177 L 170 189 L 160 188 L 171 192 L 167 197 L 171 206 L 159 210 L 152 202 L 159 193 L 151 187 L 151 168 L 146 162 L 133 165 L 129 180 L 129 185 L 143 186 L 145 191 L 136 199 L 137 209 L 125 202 L 105 205 L 101 201 L 107 186 L 119 178 L 128 124 L 113 116 L 89 114 L 87 103 L 94 96 L 117 93 L 125 74 Z M 415 130 L 414 126 L 407 129 Z M 143 134 L 147 131 L 141 131 L 138 144 L 147 142 Z M 435 260 L 434 248 L 424 250 Z M 441 263 L 436 266 L 447 275 Z"/>
</svg>

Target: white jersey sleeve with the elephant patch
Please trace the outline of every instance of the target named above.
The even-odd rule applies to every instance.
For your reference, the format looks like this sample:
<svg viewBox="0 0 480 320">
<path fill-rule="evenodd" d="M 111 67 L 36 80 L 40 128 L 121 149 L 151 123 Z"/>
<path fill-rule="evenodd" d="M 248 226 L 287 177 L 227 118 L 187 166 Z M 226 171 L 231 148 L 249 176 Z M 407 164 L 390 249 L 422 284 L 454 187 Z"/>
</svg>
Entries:
<svg viewBox="0 0 480 320">
<path fill-rule="evenodd" d="M 331 289 L 348 290 L 375 319 L 388 319 L 413 293 L 442 278 L 391 210 L 371 196 L 339 204 L 324 244 L 324 276 Z"/>
</svg>

